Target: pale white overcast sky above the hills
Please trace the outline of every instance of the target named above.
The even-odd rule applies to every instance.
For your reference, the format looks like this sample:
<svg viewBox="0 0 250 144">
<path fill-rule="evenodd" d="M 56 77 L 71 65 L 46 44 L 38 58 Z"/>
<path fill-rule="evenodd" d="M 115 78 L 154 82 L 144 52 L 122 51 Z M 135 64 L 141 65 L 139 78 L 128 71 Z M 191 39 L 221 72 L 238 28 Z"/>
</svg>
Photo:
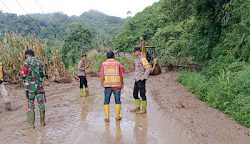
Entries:
<svg viewBox="0 0 250 144">
<path fill-rule="evenodd" d="M 98 10 L 108 15 L 126 17 L 128 11 L 134 15 L 157 1 L 159 0 L 0 0 L 0 10 L 18 15 L 63 12 L 69 16 Z"/>
</svg>

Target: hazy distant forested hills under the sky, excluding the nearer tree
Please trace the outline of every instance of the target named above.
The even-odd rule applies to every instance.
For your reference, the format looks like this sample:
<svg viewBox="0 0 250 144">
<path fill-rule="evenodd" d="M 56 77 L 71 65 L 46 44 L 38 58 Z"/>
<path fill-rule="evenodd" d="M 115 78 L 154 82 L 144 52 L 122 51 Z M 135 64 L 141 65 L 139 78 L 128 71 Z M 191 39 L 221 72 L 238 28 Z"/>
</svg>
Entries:
<svg viewBox="0 0 250 144">
<path fill-rule="evenodd" d="M 62 13 L 17 16 L 0 11 L 0 39 L 3 39 L 4 33 L 8 32 L 63 41 L 70 32 L 72 23 L 79 23 L 95 35 L 95 43 L 98 46 L 110 46 L 124 21 L 94 10 L 85 12 L 81 16 L 71 17 Z"/>
</svg>

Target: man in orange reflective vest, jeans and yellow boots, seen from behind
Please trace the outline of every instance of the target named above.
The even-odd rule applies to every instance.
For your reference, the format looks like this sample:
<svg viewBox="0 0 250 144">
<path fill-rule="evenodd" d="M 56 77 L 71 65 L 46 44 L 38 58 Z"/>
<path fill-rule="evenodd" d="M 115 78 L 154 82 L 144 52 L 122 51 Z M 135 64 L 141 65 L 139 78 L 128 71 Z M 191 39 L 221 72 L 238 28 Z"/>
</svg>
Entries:
<svg viewBox="0 0 250 144">
<path fill-rule="evenodd" d="M 109 103 L 112 93 L 116 103 L 116 120 L 121 120 L 121 89 L 124 86 L 122 65 L 115 60 L 111 50 L 107 52 L 107 60 L 102 63 L 101 86 L 104 87 L 104 112 L 105 121 L 109 122 Z"/>
</svg>

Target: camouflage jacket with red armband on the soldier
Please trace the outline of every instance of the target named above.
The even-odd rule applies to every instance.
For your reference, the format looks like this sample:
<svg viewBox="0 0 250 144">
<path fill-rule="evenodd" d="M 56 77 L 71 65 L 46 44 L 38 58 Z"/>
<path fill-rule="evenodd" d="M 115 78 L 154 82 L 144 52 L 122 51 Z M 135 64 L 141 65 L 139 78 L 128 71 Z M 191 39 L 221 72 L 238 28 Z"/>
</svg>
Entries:
<svg viewBox="0 0 250 144">
<path fill-rule="evenodd" d="M 45 66 L 40 60 L 35 57 L 26 59 L 21 73 L 25 76 L 26 91 L 43 91 L 42 78 L 45 78 Z"/>
</svg>

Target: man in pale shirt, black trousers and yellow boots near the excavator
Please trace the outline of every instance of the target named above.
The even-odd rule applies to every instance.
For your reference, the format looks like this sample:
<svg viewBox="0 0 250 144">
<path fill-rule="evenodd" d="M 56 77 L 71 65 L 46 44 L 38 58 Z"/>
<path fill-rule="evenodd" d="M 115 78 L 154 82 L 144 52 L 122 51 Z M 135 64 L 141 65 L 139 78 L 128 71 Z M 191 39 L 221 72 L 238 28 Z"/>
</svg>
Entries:
<svg viewBox="0 0 250 144">
<path fill-rule="evenodd" d="M 135 73 L 134 73 L 134 91 L 133 96 L 135 99 L 135 108 L 131 109 L 131 112 L 136 112 L 137 114 L 144 114 L 147 111 L 147 98 L 146 98 L 146 79 L 148 78 L 151 66 L 147 59 L 142 57 L 140 47 L 134 48 L 134 63 L 135 63 Z M 140 97 L 138 93 L 140 92 Z"/>
</svg>

